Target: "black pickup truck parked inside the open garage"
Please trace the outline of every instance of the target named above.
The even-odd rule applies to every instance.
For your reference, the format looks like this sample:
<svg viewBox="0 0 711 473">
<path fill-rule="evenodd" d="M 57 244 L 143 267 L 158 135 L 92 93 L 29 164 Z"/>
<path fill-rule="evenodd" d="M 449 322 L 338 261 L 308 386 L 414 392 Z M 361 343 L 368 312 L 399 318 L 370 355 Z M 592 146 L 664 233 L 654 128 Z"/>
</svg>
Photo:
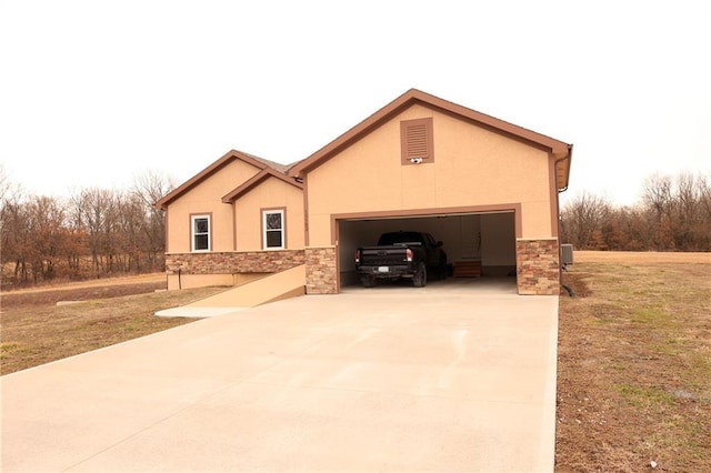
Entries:
<svg viewBox="0 0 711 473">
<path fill-rule="evenodd" d="M 400 278 L 411 278 L 415 288 L 422 288 L 428 270 L 447 278 L 447 253 L 429 233 L 383 233 L 377 246 L 356 250 L 356 271 L 365 288 L 375 285 L 377 279 Z"/>
</svg>

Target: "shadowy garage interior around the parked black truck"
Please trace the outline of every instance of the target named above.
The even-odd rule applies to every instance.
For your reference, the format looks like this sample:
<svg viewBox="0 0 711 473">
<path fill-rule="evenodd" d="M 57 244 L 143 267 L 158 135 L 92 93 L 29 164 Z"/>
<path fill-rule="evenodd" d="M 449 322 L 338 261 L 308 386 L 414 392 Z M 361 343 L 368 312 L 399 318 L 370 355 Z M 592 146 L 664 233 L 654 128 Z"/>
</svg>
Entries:
<svg viewBox="0 0 711 473">
<path fill-rule="evenodd" d="M 341 286 L 360 285 L 354 262 L 358 246 L 375 245 L 381 233 L 400 230 L 427 232 L 442 241 L 451 266 L 450 276 L 471 276 L 472 273 L 463 269 L 479 264 L 482 278 L 515 275 L 513 211 L 346 219 L 338 220 L 337 224 Z"/>
</svg>

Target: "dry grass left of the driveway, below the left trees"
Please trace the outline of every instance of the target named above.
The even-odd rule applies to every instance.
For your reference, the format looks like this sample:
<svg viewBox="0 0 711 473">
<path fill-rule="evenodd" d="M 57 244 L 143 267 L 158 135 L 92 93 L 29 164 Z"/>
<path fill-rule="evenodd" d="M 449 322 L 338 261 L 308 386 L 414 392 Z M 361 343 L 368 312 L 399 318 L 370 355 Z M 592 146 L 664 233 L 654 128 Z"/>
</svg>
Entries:
<svg viewBox="0 0 711 473">
<path fill-rule="evenodd" d="M 153 314 L 224 290 L 156 292 L 166 286 L 164 278 L 102 280 L 103 285 L 92 281 L 3 293 L 0 373 L 12 373 L 192 322 L 196 319 Z M 59 301 L 82 302 L 58 305 Z"/>
</svg>

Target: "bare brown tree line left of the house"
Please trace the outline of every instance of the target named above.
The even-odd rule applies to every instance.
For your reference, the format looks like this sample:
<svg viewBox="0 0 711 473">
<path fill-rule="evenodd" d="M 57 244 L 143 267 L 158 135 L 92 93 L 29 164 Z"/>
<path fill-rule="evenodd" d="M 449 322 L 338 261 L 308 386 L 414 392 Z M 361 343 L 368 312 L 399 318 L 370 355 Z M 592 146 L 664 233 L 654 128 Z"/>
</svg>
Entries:
<svg viewBox="0 0 711 473">
<path fill-rule="evenodd" d="M 173 188 L 149 171 L 128 190 L 32 195 L 0 169 L 2 284 L 162 271 L 164 215 L 152 204 Z"/>
</svg>

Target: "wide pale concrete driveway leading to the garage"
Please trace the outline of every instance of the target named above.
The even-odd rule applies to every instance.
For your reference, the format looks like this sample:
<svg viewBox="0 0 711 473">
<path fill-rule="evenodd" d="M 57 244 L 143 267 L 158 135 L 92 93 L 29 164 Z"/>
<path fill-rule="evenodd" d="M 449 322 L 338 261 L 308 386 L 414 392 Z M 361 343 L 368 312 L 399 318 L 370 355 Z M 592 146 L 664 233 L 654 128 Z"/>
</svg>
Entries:
<svg viewBox="0 0 711 473">
<path fill-rule="evenodd" d="M 558 298 L 350 289 L 10 374 L 2 471 L 552 471 Z"/>
</svg>

